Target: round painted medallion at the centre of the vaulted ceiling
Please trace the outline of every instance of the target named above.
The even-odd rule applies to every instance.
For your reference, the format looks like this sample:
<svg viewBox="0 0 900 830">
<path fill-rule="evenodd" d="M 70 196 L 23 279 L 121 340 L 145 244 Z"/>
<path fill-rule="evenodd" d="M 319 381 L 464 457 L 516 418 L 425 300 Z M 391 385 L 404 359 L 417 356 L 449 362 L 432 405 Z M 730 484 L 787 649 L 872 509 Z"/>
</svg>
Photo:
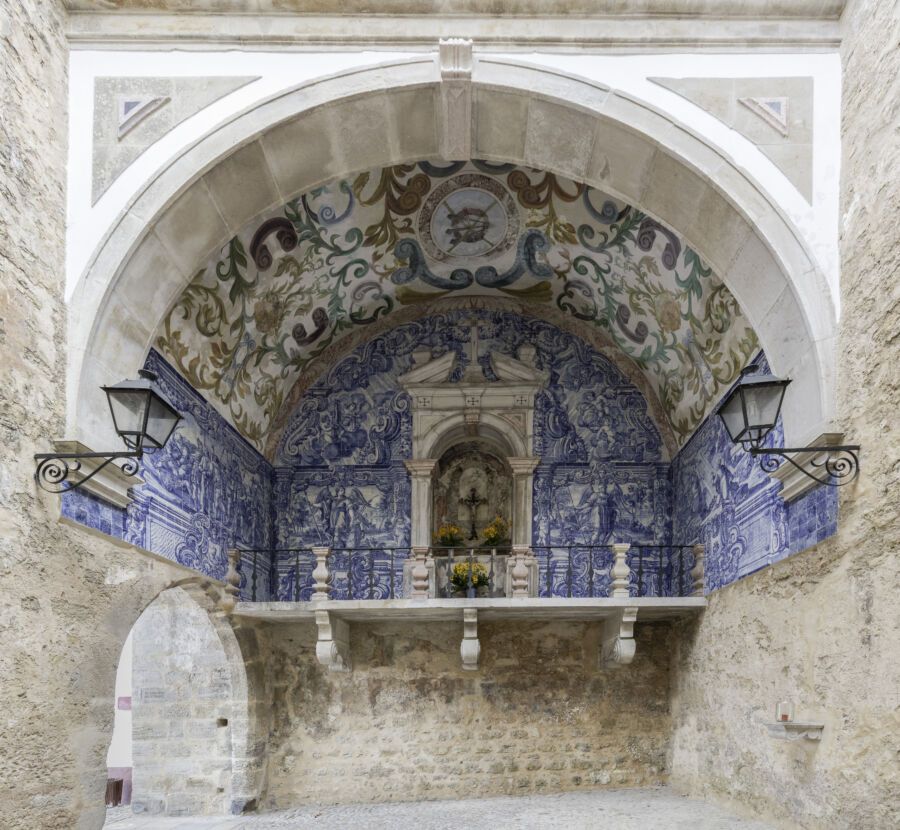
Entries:
<svg viewBox="0 0 900 830">
<path fill-rule="evenodd" d="M 519 232 L 512 196 L 499 182 L 464 173 L 436 187 L 419 214 L 419 237 L 438 260 L 508 250 Z"/>
</svg>

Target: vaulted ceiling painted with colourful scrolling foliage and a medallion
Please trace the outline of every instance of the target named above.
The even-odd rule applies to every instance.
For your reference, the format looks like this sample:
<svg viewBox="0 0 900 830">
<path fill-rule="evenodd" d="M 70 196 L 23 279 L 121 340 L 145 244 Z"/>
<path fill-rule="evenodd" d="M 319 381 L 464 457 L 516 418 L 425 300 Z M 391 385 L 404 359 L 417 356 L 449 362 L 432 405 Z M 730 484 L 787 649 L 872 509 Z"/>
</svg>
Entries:
<svg viewBox="0 0 900 830">
<path fill-rule="evenodd" d="M 326 349 L 461 295 L 601 329 L 647 376 L 679 445 L 757 349 L 734 297 L 668 228 L 552 173 L 478 161 L 371 170 L 288 202 L 201 265 L 155 345 L 262 450 Z"/>
</svg>

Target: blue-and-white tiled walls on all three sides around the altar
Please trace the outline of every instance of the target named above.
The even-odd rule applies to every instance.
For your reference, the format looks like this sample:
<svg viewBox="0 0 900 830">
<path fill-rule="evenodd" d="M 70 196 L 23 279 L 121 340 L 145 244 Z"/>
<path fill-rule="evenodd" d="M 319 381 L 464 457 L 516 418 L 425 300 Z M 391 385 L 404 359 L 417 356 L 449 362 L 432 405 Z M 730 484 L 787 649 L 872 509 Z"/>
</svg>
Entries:
<svg viewBox="0 0 900 830">
<path fill-rule="evenodd" d="M 468 322 L 479 320 L 479 361 L 486 377 L 491 350 L 515 356 L 528 343 L 550 374 L 535 405 L 533 541 L 565 545 L 693 544 L 707 546 L 707 590 L 714 590 L 832 535 L 837 499 L 820 487 L 785 504 L 779 485 L 708 418 L 671 463 L 637 390 L 601 354 L 540 320 L 499 312 L 451 312 L 399 326 L 358 347 L 308 390 L 296 408 L 273 468 L 156 352 L 147 367 L 184 415 L 169 444 L 145 458 L 144 485 L 119 510 L 90 495 L 63 499 L 77 521 L 175 559 L 217 578 L 225 551 L 240 548 L 379 546 L 384 553 L 338 551 L 335 596 L 399 593 L 409 545 L 411 454 L 409 402 L 397 377 L 423 345 L 432 356 L 453 349 L 460 377 L 468 358 Z M 764 364 L 764 357 L 760 356 Z M 780 435 L 775 436 L 780 441 Z M 395 549 L 393 565 L 390 549 Z M 562 586 L 567 564 L 557 551 L 551 582 Z M 608 563 L 574 559 L 573 593 L 587 595 L 589 573 L 603 592 Z M 298 561 L 300 567 L 298 569 Z M 654 560 L 655 561 L 655 560 Z M 244 557 L 242 593 L 253 588 L 253 557 Z M 687 563 L 685 567 L 689 568 Z M 676 563 L 663 567 L 672 580 Z M 658 566 L 648 563 L 655 590 Z M 307 599 L 309 554 L 256 556 L 256 597 Z M 299 578 L 297 575 L 299 574 Z M 295 579 L 298 585 L 295 585 Z M 555 591 L 563 590 L 557 586 Z"/>
</svg>

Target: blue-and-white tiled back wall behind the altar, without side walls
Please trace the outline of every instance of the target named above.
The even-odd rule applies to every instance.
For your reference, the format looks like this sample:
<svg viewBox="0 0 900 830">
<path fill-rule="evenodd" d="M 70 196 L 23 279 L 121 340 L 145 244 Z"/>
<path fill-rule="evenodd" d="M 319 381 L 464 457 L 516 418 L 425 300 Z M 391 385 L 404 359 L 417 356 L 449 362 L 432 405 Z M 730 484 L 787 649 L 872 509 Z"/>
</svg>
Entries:
<svg viewBox="0 0 900 830">
<path fill-rule="evenodd" d="M 668 465 L 660 461 L 662 441 L 635 387 L 605 357 L 555 326 L 468 311 L 392 329 L 357 348 L 309 389 L 276 455 L 279 547 L 409 545 L 410 485 L 402 459 L 411 455 L 412 417 L 397 378 L 412 368 L 412 353 L 423 346 L 432 357 L 456 351 L 451 380 L 460 378 L 469 362 L 473 316 L 487 379 L 495 379 L 491 351 L 515 357 L 523 344 L 536 348 L 537 366 L 550 373 L 535 405 L 534 452 L 542 457 L 535 476 L 535 544 L 605 544 L 613 537 L 654 542 L 667 536 Z M 335 563 L 346 570 L 345 559 Z M 293 554 L 279 559 L 279 595 L 292 590 L 294 567 Z M 357 555 L 353 571 L 354 584 L 367 590 L 364 554 Z M 387 557 L 375 572 L 375 595 L 387 596 Z M 580 569 L 577 591 L 585 579 L 587 570 Z"/>
</svg>

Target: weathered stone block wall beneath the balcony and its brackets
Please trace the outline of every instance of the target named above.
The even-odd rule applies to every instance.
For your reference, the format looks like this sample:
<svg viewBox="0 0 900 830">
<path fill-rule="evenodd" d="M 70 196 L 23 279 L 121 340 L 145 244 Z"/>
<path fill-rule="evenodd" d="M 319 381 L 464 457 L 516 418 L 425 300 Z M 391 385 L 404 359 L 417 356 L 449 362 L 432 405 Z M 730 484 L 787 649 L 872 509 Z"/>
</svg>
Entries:
<svg viewBox="0 0 900 830">
<path fill-rule="evenodd" d="M 664 784 L 670 632 L 637 627 L 600 670 L 596 623 L 354 624 L 353 672 L 315 660 L 315 627 L 272 626 L 265 807 L 489 797 Z"/>
</svg>

